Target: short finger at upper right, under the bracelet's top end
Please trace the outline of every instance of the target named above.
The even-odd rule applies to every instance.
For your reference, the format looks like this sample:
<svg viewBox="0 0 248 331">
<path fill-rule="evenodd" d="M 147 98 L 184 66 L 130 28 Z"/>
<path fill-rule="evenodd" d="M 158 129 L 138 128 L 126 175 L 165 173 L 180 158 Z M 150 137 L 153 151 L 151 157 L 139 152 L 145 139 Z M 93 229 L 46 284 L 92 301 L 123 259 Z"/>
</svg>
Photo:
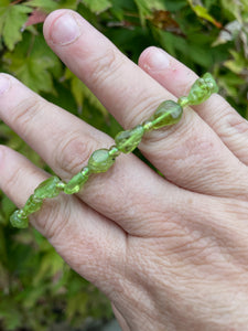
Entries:
<svg viewBox="0 0 248 331">
<path fill-rule="evenodd" d="M 158 47 L 148 47 L 139 66 L 176 97 L 187 95 L 198 76 L 183 63 Z M 213 128 L 224 143 L 245 164 L 248 164 L 248 122 L 222 96 L 194 106 L 197 114 Z"/>
</svg>

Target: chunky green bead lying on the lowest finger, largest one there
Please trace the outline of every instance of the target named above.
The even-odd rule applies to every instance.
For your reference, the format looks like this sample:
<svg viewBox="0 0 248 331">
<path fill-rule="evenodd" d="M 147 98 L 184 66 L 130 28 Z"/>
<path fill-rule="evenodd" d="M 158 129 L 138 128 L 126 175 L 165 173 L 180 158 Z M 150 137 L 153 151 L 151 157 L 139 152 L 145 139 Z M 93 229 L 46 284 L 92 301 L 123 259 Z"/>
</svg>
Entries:
<svg viewBox="0 0 248 331">
<path fill-rule="evenodd" d="M 60 183 L 60 178 L 52 175 L 34 190 L 34 194 L 37 199 L 55 197 L 62 191 L 62 188 L 58 185 Z"/>
</svg>

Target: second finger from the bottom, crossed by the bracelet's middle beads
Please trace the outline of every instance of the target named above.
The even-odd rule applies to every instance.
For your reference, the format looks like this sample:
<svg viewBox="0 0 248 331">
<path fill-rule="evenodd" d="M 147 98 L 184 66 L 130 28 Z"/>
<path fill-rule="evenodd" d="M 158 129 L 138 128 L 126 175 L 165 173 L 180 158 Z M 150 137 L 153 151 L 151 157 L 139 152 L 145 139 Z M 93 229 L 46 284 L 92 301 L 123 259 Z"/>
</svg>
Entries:
<svg viewBox="0 0 248 331">
<path fill-rule="evenodd" d="M 68 181 L 79 172 L 94 150 L 109 148 L 114 143 L 107 135 L 47 103 L 15 78 L 8 75 L 0 75 L 0 78 L 8 79 L 10 84 L 0 98 L 0 118 L 63 180 Z M 117 222 L 126 232 L 151 235 L 151 220 L 159 205 L 164 204 L 164 196 L 170 192 L 168 205 L 173 194 L 180 194 L 172 186 L 161 181 L 161 177 L 138 158 L 129 154 L 120 156 L 107 173 L 89 178 L 78 196 Z M 143 215 L 143 209 L 148 205 L 149 210 Z M 152 228 L 155 231 L 155 224 Z"/>
</svg>

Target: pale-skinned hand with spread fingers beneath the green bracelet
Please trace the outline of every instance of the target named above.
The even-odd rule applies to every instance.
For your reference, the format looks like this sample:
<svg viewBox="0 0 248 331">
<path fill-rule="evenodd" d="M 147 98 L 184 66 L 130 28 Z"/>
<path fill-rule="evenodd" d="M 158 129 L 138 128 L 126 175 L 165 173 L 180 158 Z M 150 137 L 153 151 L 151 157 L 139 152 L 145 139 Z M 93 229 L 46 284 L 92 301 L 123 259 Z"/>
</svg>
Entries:
<svg viewBox="0 0 248 331">
<path fill-rule="evenodd" d="M 125 129 L 161 102 L 186 95 L 197 78 L 157 47 L 133 64 L 73 11 L 50 14 L 44 36 Z M 114 143 L 15 78 L 4 79 L 0 118 L 63 180 Z M 47 200 L 31 223 L 108 296 L 125 331 L 248 330 L 247 141 L 247 121 L 213 95 L 140 143 L 165 178 L 122 154 L 79 194 Z M 4 146 L 0 173 L 1 190 L 19 207 L 48 177 Z"/>
</svg>

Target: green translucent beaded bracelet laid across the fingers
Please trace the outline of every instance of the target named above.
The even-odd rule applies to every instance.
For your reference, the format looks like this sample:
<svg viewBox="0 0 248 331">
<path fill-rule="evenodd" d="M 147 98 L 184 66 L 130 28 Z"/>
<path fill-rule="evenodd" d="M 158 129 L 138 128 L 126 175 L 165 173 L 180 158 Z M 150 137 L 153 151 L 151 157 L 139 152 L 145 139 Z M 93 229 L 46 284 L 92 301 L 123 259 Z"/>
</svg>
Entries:
<svg viewBox="0 0 248 331">
<path fill-rule="evenodd" d="M 218 86 L 209 73 L 206 73 L 191 87 L 190 94 L 179 98 L 177 103 L 166 100 L 159 105 L 154 114 L 143 124 L 126 131 L 120 131 L 115 137 L 116 145 L 109 149 L 103 148 L 94 151 L 88 164 L 75 174 L 67 183 L 53 175 L 42 182 L 34 193 L 28 199 L 21 210 L 17 210 L 10 217 L 12 226 L 24 228 L 29 225 L 28 216 L 37 212 L 44 199 L 57 196 L 61 192 L 66 194 L 78 193 L 91 173 L 106 172 L 116 158 L 122 153 L 132 152 L 148 131 L 160 129 L 164 126 L 179 122 L 183 114 L 183 107 L 198 105 L 205 102 L 213 93 L 218 92 Z"/>
</svg>

